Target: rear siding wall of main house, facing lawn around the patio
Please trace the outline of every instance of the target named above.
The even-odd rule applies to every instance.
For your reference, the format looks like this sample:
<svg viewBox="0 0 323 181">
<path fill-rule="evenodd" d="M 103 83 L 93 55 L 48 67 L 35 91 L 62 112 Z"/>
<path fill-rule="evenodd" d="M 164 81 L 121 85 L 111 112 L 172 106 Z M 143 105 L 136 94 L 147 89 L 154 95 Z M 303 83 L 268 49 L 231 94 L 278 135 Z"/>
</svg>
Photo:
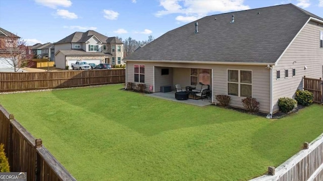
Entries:
<svg viewBox="0 0 323 181">
<path fill-rule="evenodd" d="M 216 101 L 215 96 L 218 94 L 228 94 L 228 81 L 227 70 L 250 70 L 252 71 L 252 96 L 260 103 L 259 108 L 262 112 L 270 112 L 270 70 L 266 69 L 266 66 L 235 66 L 235 65 L 205 65 L 205 64 L 171 64 L 171 63 L 134 63 L 127 62 L 127 82 L 134 82 L 134 64 L 145 65 L 145 84 L 147 87 L 153 85 L 153 66 L 155 71 L 159 67 L 170 67 L 173 69 L 173 81 L 174 89 L 175 84 L 180 84 L 183 88 L 190 85 L 190 68 L 194 69 L 211 69 L 213 70 L 213 82 L 210 85 L 210 89 L 213 89 L 213 100 Z M 155 76 L 159 73 L 155 72 Z M 171 71 L 170 71 L 171 72 Z M 212 72 L 212 71 L 211 71 Z M 160 85 L 166 84 L 157 83 L 159 78 L 155 77 L 155 92 L 160 91 Z M 243 107 L 241 100 L 244 97 L 231 96 L 231 106 Z"/>
</svg>

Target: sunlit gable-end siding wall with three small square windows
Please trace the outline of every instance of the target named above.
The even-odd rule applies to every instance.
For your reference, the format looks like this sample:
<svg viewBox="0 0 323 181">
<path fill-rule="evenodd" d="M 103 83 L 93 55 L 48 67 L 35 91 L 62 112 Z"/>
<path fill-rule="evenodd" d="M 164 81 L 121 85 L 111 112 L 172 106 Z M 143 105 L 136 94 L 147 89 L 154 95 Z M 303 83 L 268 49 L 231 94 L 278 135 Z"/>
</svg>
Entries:
<svg viewBox="0 0 323 181">
<path fill-rule="evenodd" d="M 317 24 L 308 22 L 283 54 L 278 65 L 273 67 L 274 112 L 279 110 L 279 98 L 293 98 L 297 89 L 303 89 L 303 76 L 313 79 L 322 77 L 323 48 L 319 48 L 319 32 L 323 31 L 323 25 Z M 307 69 L 304 69 L 305 66 Z M 289 72 L 288 78 L 285 78 L 286 69 Z M 296 69 L 295 77 L 292 77 L 293 69 Z M 279 80 L 276 80 L 277 70 L 281 71 Z"/>
</svg>

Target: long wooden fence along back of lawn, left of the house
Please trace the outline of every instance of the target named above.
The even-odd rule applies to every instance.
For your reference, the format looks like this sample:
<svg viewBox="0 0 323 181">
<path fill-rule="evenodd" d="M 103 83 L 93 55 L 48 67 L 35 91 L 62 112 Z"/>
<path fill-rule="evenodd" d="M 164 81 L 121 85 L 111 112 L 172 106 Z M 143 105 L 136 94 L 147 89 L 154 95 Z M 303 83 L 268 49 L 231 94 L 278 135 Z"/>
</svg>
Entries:
<svg viewBox="0 0 323 181">
<path fill-rule="evenodd" d="M 0 92 L 125 83 L 125 70 L 0 73 Z"/>
</svg>

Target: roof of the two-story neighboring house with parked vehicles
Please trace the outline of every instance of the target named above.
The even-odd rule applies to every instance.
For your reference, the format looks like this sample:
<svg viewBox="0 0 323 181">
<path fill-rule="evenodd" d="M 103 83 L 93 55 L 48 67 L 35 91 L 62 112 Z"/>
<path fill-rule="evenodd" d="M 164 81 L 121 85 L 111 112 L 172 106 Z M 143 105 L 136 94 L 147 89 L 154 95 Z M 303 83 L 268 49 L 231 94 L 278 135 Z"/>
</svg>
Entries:
<svg viewBox="0 0 323 181">
<path fill-rule="evenodd" d="M 96 31 L 88 30 L 86 32 L 75 32 L 71 35 L 61 39 L 60 41 L 54 43 L 54 44 L 60 44 L 60 43 L 85 43 L 87 40 L 89 40 L 92 36 L 95 36 L 97 39 L 99 39 L 102 43 L 110 43 L 110 41 L 117 41 L 118 43 L 122 43 L 118 38 L 116 37 L 107 37 L 104 36 Z"/>
</svg>

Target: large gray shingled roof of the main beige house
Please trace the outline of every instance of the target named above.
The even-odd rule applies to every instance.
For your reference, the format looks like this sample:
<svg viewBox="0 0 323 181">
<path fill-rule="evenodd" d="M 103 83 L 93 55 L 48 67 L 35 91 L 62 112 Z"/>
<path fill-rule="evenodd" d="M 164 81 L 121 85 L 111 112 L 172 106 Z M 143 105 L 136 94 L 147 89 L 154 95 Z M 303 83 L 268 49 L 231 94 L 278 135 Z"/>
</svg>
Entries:
<svg viewBox="0 0 323 181">
<path fill-rule="evenodd" d="M 311 16 L 322 20 L 292 4 L 206 16 L 165 33 L 124 59 L 275 63 Z"/>
</svg>

